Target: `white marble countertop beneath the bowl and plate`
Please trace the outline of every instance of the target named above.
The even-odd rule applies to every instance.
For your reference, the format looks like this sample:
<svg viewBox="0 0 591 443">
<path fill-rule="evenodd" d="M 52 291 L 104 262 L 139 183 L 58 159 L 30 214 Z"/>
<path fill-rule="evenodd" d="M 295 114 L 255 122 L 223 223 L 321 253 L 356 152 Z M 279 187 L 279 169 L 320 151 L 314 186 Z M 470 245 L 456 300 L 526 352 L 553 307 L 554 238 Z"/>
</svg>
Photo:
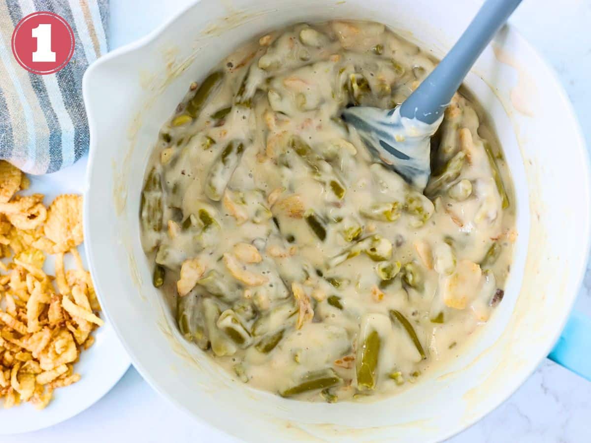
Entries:
<svg viewBox="0 0 591 443">
<path fill-rule="evenodd" d="M 111 0 L 112 47 L 147 34 L 188 3 Z M 511 21 L 556 69 L 591 145 L 591 0 L 524 0 Z M 84 167 L 82 161 L 73 168 L 80 172 Z M 589 265 L 576 309 L 591 315 Z M 69 421 L 31 434 L 2 437 L 4 443 L 82 440 L 229 441 L 177 411 L 133 368 L 102 400 Z M 591 383 L 546 360 L 499 408 L 450 439 L 453 443 L 506 441 L 591 441 Z"/>
</svg>

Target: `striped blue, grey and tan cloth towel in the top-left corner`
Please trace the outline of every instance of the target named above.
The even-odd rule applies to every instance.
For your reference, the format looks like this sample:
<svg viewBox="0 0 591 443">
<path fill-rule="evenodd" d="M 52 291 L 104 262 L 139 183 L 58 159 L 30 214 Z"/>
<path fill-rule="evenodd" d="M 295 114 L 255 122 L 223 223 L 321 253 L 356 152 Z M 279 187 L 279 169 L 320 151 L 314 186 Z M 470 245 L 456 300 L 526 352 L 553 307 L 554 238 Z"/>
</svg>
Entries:
<svg viewBox="0 0 591 443">
<path fill-rule="evenodd" d="M 107 51 L 108 8 L 108 0 L 0 0 L 0 159 L 47 174 L 88 151 L 82 75 Z M 30 73 L 12 56 L 12 31 L 35 11 L 59 14 L 74 31 L 72 60 L 55 74 Z"/>
</svg>

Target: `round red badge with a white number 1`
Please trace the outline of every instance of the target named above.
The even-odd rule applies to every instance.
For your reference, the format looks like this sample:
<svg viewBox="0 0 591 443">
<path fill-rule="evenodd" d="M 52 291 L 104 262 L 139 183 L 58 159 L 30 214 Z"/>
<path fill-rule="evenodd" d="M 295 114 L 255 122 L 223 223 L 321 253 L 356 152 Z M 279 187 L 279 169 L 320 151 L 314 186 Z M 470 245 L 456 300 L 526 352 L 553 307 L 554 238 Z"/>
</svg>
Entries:
<svg viewBox="0 0 591 443">
<path fill-rule="evenodd" d="M 53 74 L 74 54 L 74 32 L 53 12 L 27 15 L 12 32 L 12 53 L 24 69 L 34 74 Z"/>
</svg>

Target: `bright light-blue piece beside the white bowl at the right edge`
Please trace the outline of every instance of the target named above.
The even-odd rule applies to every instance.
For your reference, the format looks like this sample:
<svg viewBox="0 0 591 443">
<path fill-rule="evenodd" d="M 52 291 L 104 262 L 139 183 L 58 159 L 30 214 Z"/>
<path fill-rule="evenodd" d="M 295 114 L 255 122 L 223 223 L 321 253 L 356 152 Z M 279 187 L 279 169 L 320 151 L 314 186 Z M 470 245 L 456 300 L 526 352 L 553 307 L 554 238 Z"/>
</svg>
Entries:
<svg viewBox="0 0 591 443">
<path fill-rule="evenodd" d="M 591 317 L 573 312 L 548 358 L 591 381 Z"/>
</svg>

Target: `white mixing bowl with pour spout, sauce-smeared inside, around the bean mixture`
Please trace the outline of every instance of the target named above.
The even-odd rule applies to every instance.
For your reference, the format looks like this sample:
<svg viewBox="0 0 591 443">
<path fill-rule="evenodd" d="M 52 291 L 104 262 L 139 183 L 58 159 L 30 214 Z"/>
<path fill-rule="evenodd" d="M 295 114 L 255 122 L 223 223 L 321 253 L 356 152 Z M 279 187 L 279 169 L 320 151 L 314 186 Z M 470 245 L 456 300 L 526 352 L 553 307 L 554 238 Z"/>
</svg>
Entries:
<svg viewBox="0 0 591 443">
<path fill-rule="evenodd" d="M 563 89 L 511 27 L 499 32 L 466 79 L 492 118 L 515 181 L 519 237 L 511 278 L 478 343 L 413 389 L 375 403 L 310 404 L 234 382 L 177 333 L 139 243 L 142 177 L 158 129 L 189 83 L 237 45 L 293 22 L 369 19 L 441 57 L 477 6 L 202 0 L 90 67 L 84 79 L 90 269 L 106 315 L 155 389 L 203 422 L 248 440 L 435 441 L 499 405 L 547 355 L 587 259 L 589 165 Z"/>
</svg>

